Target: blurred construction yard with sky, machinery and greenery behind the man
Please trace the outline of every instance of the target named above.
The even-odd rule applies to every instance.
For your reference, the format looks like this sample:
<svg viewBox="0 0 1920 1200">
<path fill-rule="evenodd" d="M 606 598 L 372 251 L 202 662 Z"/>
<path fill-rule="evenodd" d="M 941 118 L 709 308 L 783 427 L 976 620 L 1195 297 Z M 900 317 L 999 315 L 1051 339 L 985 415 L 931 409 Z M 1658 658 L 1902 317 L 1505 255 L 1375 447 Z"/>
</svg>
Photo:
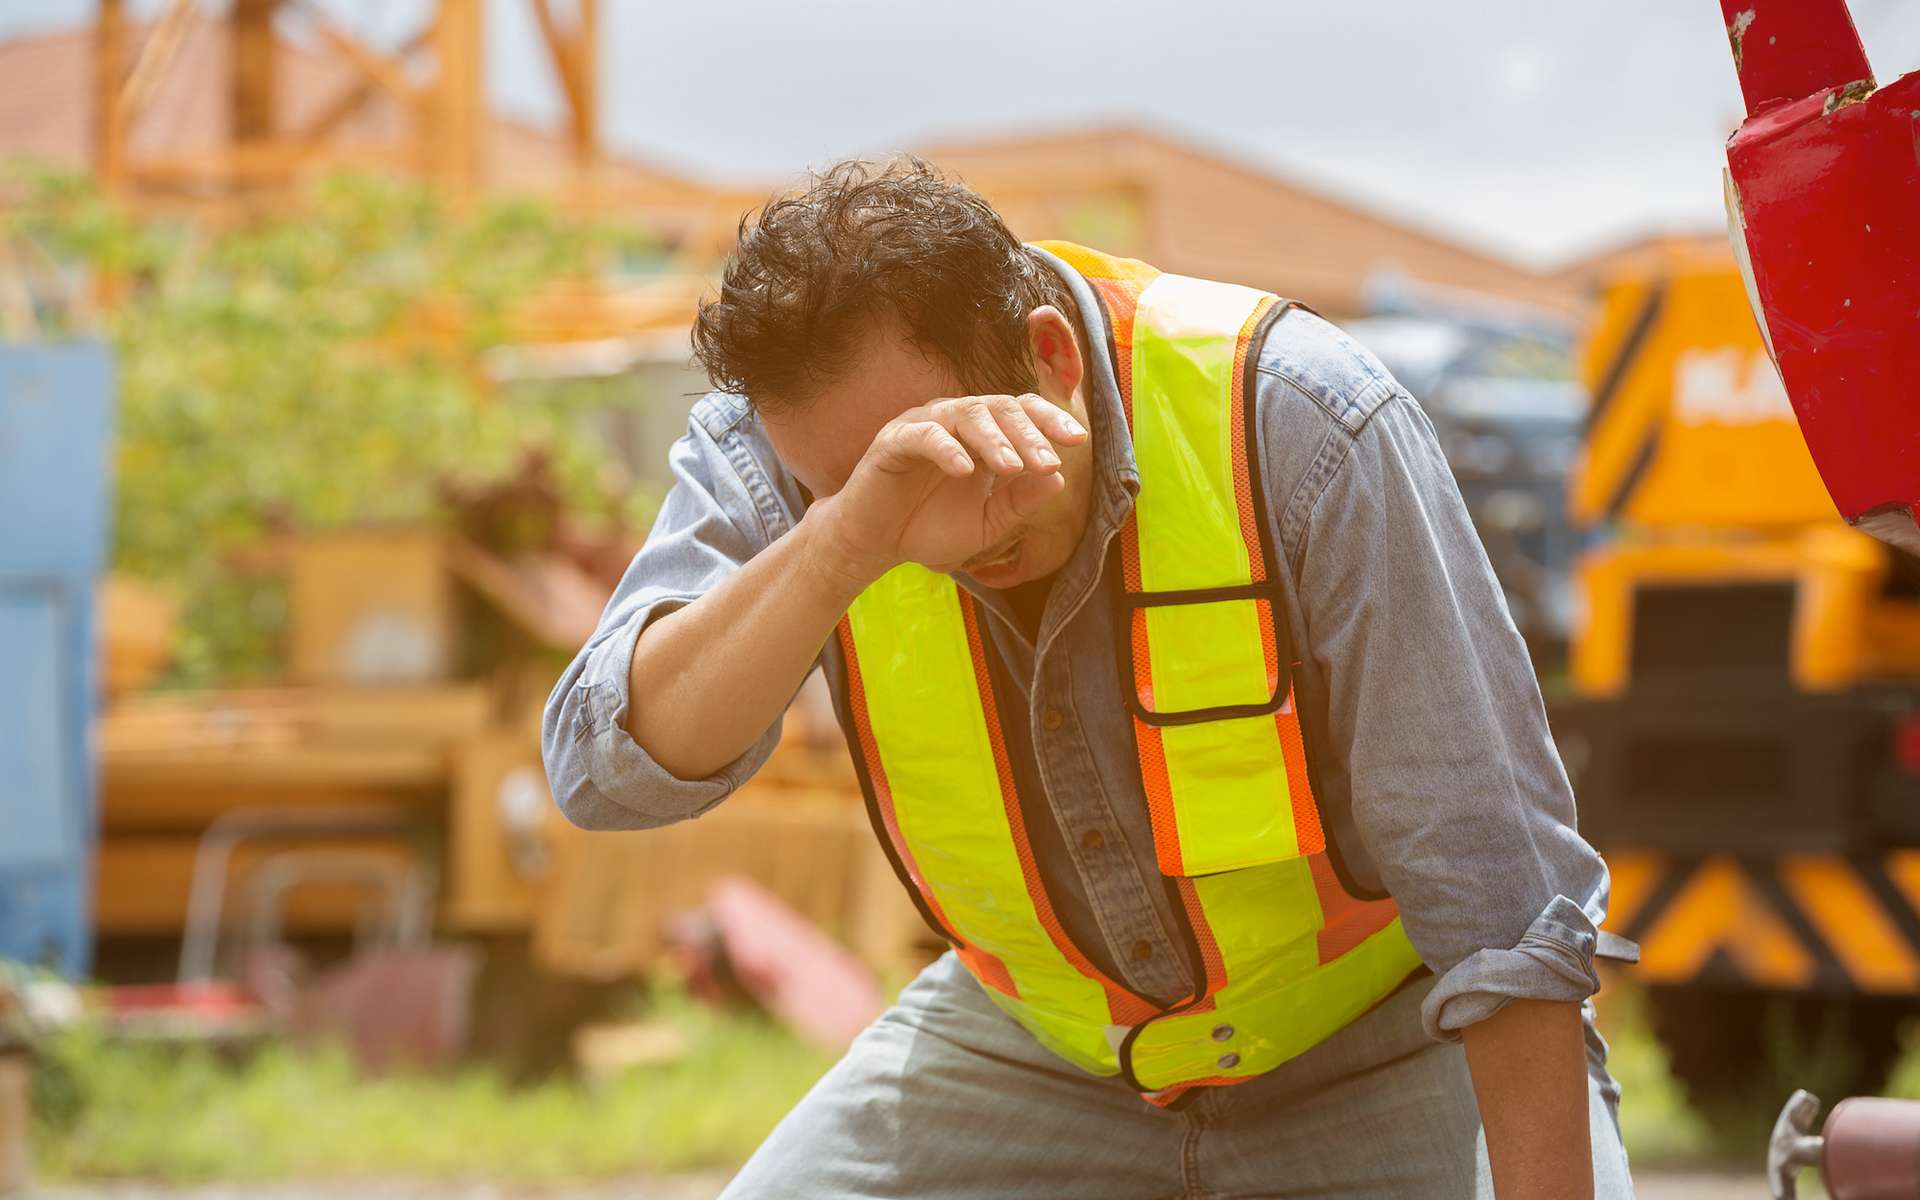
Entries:
<svg viewBox="0 0 1920 1200">
<path fill-rule="evenodd" d="M 1740 119 L 1707 0 L 10 0 L 0 1192 L 712 1196 L 935 952 L 820 695 L 657 833 L 538 749 L 741 215 L 893 150 L 1425 405 L 1644 945 L 1645 1194 L 1920 1096 L 1920 572 L 1755 332 Z"/>
</svg>

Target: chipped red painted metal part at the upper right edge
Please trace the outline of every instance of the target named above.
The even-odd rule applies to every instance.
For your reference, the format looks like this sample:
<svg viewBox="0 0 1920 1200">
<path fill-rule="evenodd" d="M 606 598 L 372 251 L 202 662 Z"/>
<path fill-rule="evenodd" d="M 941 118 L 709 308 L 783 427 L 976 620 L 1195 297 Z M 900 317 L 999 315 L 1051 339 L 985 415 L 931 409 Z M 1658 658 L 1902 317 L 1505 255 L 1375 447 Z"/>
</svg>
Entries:
<svg viewBox="0 0 1920 1200">
<path fill-rule="evenodd" d="M 1722 12 L 1749 106 L 1728 209 L 1763 332 L 1841 515 L 1920 545 L 1920 73 L 1876 88 L 1843 0 Z"/>
</svg>

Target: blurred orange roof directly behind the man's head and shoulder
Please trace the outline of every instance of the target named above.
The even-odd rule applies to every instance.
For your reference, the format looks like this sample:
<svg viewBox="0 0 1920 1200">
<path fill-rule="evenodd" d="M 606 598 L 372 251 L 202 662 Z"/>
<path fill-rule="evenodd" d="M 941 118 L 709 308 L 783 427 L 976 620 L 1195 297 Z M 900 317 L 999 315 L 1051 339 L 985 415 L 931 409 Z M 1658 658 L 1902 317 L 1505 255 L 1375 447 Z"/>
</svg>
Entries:
<svg viewBox="0 0 1920 1200">
<path fill-rule="evenodd" d="M 925 157 L 979 186 L 1021 236 L 1079 236 L 1329 313 L 1363 311 L 1380 271 L 1561 313 L 1578 303 L 1551 275 L 1148 129 L 945 142 Z"/>
</svg>

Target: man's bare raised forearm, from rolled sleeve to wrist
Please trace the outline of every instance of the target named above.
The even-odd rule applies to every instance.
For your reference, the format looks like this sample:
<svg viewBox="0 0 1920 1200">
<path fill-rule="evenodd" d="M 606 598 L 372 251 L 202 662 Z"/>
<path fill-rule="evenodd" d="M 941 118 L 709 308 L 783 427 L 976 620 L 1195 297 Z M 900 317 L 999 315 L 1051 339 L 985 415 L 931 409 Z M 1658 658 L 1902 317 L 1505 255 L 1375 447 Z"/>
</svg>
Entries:
<svg viewBox="0 0 1920 1200">
<path fill-rule="evenodd" d="M 866 580 L 826 545 L 816 505 L 785 538 L 685 609 L 651 622 L 628 670 L 626 732 L 703 780 L 772 726 Z"/>
</svg>

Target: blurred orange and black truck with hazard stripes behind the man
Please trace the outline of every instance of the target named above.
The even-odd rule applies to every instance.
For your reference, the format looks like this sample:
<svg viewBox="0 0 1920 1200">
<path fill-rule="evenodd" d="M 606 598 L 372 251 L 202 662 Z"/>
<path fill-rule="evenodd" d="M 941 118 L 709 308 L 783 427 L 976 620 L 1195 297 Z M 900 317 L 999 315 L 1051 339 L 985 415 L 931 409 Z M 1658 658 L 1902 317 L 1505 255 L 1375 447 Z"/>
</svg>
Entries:
<svg viewBox="0 0 1920 1200">
<path fill-rule="evenodd" d="M 1732 252 L 1607 280 L 1555 735 L 1701 1102 L 1874 1091 L 1920 1012 L 1920 563 L 1828 499 Z"/>
</svg>

